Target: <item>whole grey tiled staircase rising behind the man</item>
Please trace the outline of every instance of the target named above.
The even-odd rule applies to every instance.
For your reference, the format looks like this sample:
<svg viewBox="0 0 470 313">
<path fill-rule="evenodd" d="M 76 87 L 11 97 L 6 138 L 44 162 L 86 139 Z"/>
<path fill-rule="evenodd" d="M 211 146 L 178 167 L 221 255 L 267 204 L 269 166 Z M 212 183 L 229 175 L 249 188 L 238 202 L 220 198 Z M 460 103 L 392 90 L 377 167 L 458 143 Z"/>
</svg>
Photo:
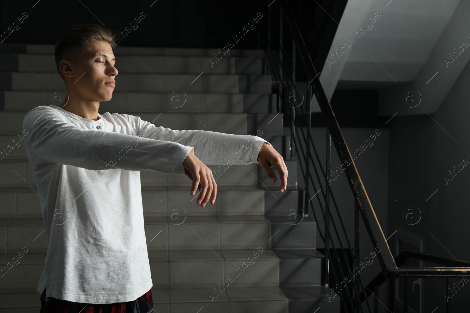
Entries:
<svg viewBox="0 0 470 313">
<path fill-rule="evenodd" d="M 31 108 L 63 105 L 65 84 L 55 71 L 54 46 L 0 49 L 1 153 L 21 134 Z M 295 214 L 303 196 L 297 162 L 288 159 L 289 130 L 275 112 L 273 79 L 262 74 L 263 51 L 232 49 L 212 67 L 214 49 L 113 52 L 117 86 L 100 113 L 139 115 L 172 129 L 258 135 L 289 170 L 287 191 L 280 193 L 258 164 L 233 165 L 217 179 L 215 205 L 205 208 L 192 201 L 188 177 L 141 172 L 155 311 L 339 312 L 339 297 L 329 299 L 334 294 L 321 285 L 316 223 Z M 36 288 L 47 252 L 39 197 L 19 142 L 0 157 L 0 313 L 39 312 Z M 23 247 L 28 252 L 9 268 Z M 242 267 L 261 249 L 255 263 Z M 216 293 L 229 275 L 234 281 Z"/>
</svg>

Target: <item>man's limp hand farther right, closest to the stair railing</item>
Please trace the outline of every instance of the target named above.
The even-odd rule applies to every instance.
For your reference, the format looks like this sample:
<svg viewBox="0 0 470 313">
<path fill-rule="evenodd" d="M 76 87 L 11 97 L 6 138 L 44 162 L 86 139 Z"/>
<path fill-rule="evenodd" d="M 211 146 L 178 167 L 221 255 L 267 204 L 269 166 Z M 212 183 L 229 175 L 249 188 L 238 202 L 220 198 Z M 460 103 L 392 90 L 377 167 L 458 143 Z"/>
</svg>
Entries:
<svg viewBox="0 0 470 313">
<path fill-rule="evenodd" d="M 271 169 L 271 166 L 274 165 L 281 178 L 279 191 L 283 192 L 287 189 L 287 176 L 289 173 L 287 172 L 287 167 L 281 154 L 277 153 L 271 145 L 265 142 L 259 150 L 257 161 L 273 183 L 277 180 L 276 175 Z"/>
</svg>

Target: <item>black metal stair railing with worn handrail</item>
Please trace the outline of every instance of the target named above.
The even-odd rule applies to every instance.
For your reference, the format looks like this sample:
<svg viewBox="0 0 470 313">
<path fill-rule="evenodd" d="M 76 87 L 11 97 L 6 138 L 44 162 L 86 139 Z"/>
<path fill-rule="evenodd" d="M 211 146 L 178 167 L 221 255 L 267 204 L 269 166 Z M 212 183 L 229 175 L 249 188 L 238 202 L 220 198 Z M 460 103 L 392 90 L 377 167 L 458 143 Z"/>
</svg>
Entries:
<svg viewBox="0 0 470 313">
<path fill-rule="evenodd" d="M 273 23 L 273 21 L 277 23 Z M 274 29 L 272 24 L 275 24 L 278 29 Z M 312 58 L 306 48 L 304 38 L 287 0 L 278 0 L 274 5 L 269 6 L 265 27 L 266 34 L 258 36 L 261 41 L 262 38 L 266 38 L 265 41 L 262 41 L 264 43 L 262 48 L 266 50 L 264 69 L 274 77 L 277 83 L 275 85 L 278 99 L 277 112 L 283 113 L 284 121 L 290 127 L 290 157 L 292 160 L 298 161 L 303 176 L 304 203 L 299 214 L 304 214 L 307 217 L 310 212 L 313 214 L 313 218 L 317 223 L 318 237 L 315 234 L 313 235 L 325 247 L 324 285 L 331 287 L 331 282 L 344 282 L 346 277 L 349 277 L 347 272 L 353 274 L 356 268 L 360 268 L 361 216 L 373 247 L 380 251 L 376 255 L 382 271 L 366 286 L 362 282 L 359 273 L 357 273 L 357 275 L 353 275 L 353 278 L 350 279 L 352 282 L 348 288 L 340 290 L 332 289 L 332 291 L 339 293 L 343 312 L 364 312 L 365 309 L 367 312 L 372 312 L 368 301 L 368 297 L 372 294 L 375 296 L 374 312 L 378 312 L 378 287 L 386 280 L 389 281 L 388 309 L 393 312 L 395 280 L 399 277 L 447 277 L 448 292 L 451 277 L 469 275 L 470 262 L 453 261 L 409 251 L 402 252 L 396 259 L 392 256 L 384 232 L 377 220 L 335 114 L 321 86 L 319 74 L 313 66 Z M 275 36 L 276 31 L 278 31 L 277 37 Z M 288 62 L 284 61 L 286 59 L 285 56 L 289 54 L 289 51 L 284 49 L 284 37 L 291 38 L 290 61 Z M 294 104 L 290 100 L 292 93 L 298 98 L 303 94 L 301 90 L 298 90 L 296 84 L 296 67 L 302 68 L 305 71 L 306 81 L 308 82 L 305 88 L 306 102 L 301 105 Z M 314 117 L 312 113 L 312 93 L 315 94 L 324 118 L 323 121 L 326 123 L 326 127 L 324 127 L 315 119 L 326 130 L 326 161 L 324 167 L 311 135 L 312 117 Z M 332 172 L 332 141 L 335 144 L 341 163 L 349 163 L 344 169 L 342 167 L 341 169 L 345 172 L 354 196 L 353 246 L 349 239 L 351 236 L 346 231 L 345 222 L 342 219 L 342 214 L 329 184 L 330 173 Z M 312 201 L 312 199 L 314 200 Z M 352 261 L 348 261 L 351 258 L 348 259 L 347 251 L 353 252 Z M 402 267 L 404 263 L 403 258 L 410 257 L 420 260 L 431 260 L 434 263 L 444 264 L 446 267 Z M 449 265 L 454 265 L 454 267 L 449 267 Z M 407 312 L 406 284 L 405 291 L 404 312 Z M 365 308 L 363 303 L 365 303 Z M 450 308 L 451 302 L 447 301 L 447 312 L 450 312 Z"/>
</svg>

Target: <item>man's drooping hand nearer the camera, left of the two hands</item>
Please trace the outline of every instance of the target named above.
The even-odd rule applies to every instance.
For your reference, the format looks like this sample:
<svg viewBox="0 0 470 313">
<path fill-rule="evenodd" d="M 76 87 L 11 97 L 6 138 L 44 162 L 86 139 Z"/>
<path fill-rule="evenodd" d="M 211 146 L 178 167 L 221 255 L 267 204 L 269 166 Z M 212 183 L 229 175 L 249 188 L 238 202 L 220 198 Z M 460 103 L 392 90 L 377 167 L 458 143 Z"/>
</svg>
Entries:
<svg viewBox="0 0 470 313">
<path fill-rule="evenodd" d="M 196 190 L 201 191 L 197 203 L 204 207 L 211 198 L 211 204 L 214 204 L 217 196 L 217 184 L 214 176 L 212 176 L 211 169 L 194 155 L 194 149 L 184 159 L 183 166 L 186 176 L 193 181 L 191 195 L 194 196 Z"/>
</svg>

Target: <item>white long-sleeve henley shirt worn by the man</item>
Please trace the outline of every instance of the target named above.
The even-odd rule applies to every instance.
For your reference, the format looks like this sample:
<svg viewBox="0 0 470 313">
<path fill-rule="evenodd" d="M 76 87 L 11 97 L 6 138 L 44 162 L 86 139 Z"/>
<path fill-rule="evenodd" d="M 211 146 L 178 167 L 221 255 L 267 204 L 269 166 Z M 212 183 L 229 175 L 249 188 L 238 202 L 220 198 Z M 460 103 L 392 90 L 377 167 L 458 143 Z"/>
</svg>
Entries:
<svg viewBox="0 0 470 313">
<path fill-rule="evenodd" d="M 133 301 L 152 287 L 140 171 L 184 175 L 183 160 L 192 148 L 204 164 L 258 163 L 267 141 L 171 130 L 127 114 L 98 117 L 50 105 L 24 118 L 47 236 L 37 291 L 80 303 Z"/>
</svg>

